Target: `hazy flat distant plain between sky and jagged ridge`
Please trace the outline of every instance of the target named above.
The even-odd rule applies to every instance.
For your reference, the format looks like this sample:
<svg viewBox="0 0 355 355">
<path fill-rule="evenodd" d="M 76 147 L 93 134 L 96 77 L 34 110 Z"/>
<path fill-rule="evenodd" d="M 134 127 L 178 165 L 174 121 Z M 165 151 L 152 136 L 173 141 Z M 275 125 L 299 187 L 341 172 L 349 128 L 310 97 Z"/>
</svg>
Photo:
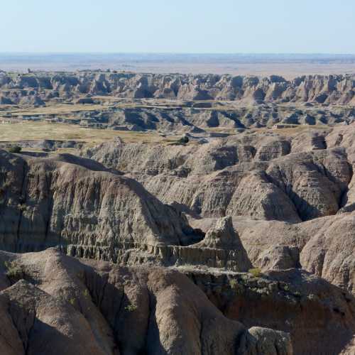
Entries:
<svg viewBox="0 0 355 355">
<path fill-rule="evenodd" d="M 13 72 L 118 70 L 166 74 L 300 75 L 355 74 L 355 55 L 0 53 L 0 70 Z"/>
</svg>

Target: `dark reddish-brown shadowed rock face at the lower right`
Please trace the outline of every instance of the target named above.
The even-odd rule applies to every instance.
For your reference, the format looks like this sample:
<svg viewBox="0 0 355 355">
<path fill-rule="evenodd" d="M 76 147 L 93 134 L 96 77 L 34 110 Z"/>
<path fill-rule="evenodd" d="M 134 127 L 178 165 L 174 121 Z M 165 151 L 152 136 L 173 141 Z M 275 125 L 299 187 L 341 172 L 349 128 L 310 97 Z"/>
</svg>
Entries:
<svg viewBox="0 0 355 355">
<path fill-rule="evenodd" d="M 354 352 L 354 297 L 305 271 L 188 274 L 226 317 L 290 333 L 294 354 Z M 263 353 L 263 351 L 261 351 Z"/>
</svg>

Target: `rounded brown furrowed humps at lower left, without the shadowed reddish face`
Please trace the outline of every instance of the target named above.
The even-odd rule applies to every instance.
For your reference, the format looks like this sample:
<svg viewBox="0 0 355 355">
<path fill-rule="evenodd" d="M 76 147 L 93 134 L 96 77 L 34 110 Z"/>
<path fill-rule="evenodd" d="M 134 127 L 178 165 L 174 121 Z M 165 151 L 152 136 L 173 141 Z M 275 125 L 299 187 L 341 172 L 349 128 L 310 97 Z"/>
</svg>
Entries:
<svg viewBox="0 0 355 355">
<path fill-rule="evenodd" d="M 177 271 L 83 262 L 53 249 L 0 258 L 26 278 L 1 273 L 6 354 L 293 354 L 287 333 L 229 320 Z"/>
</svg>

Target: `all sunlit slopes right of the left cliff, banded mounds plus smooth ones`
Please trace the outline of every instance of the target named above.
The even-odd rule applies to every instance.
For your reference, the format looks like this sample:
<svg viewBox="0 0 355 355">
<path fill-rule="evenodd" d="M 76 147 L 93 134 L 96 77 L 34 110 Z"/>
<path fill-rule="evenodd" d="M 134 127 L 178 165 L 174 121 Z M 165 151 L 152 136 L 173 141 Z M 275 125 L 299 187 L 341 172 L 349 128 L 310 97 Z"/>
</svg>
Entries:
<svg viewBox="0 0 355 355">
<path fill-rule="evenodd" d="M 206 219 L 232 216 L 254 266 L 302 267 L 354 293 L 353 131 L 243 133 L 187 146 L 116 140 L 83 154 L 140 180 L 205 232 Z"/>
</svg>

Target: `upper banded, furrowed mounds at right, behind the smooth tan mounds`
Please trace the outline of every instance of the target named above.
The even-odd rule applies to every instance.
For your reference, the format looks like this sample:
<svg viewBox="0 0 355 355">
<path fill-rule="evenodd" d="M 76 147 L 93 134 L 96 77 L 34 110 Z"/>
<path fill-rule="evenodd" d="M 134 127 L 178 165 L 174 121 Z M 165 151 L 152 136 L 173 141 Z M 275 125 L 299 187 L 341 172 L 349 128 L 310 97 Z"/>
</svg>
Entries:
<svg viewBox="0 0 355 355">
<path fill-rule="evenodd" d="M 352 208 L 354 152 L 345 140 L 327 143 L 340 130 L 346 131 L 241 133 L 198 146 L 119 140 L 82 154 L 127 173 L 188 214 L 295 223 Z"/>
</svg>

